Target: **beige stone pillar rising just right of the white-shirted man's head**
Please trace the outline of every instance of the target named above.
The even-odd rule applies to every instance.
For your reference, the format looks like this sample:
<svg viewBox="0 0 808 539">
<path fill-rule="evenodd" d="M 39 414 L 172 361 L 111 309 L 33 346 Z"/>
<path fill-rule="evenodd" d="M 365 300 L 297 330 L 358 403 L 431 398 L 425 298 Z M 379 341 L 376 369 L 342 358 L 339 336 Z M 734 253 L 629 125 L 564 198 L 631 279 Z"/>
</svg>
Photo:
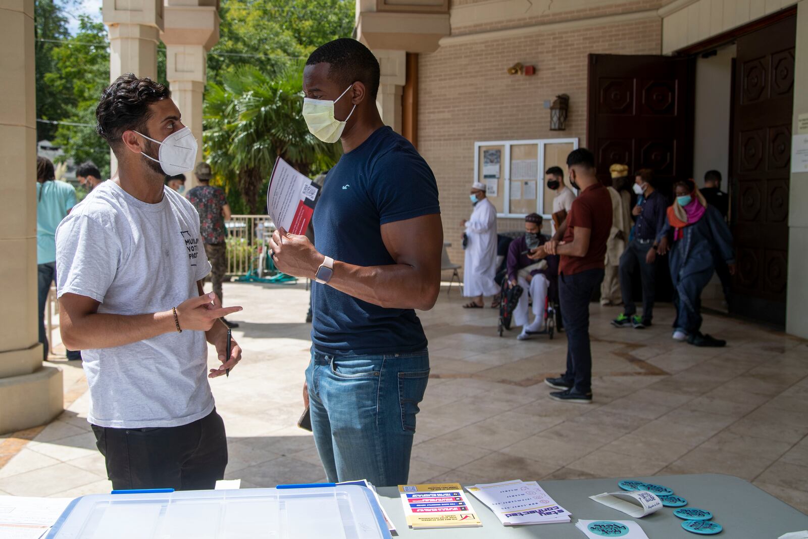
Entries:
<svg viewBox="0 0 808 539">
<path fill-rule="evenodd" d="M 165 29 L 160 35 L 166 44 L 166 78 L 171 98 L 191 128 L 198 148 L 196 162 L 202 160 L 202 101 L 207 82 L 208 51 L 219 41 L 219 13 L 211 0 L 166 0 Z M 199 183 L 193 173 L 186 175 L 185 188 Z"/>
</svg>

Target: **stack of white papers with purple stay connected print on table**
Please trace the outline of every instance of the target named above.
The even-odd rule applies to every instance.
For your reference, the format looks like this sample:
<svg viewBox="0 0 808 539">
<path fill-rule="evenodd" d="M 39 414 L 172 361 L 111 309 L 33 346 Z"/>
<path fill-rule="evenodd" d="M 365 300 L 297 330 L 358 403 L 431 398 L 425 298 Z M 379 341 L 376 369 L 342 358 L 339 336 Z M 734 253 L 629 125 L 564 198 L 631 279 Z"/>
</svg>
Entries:
<svg viewBox="0 0 808 539">
<path fill-rule="evenodd" d="M 569 522 L 570 512 L 555 501 L 535 481 L 518 479 L 467 487 L 485 503 L 505 526 Z"/>
</svg>

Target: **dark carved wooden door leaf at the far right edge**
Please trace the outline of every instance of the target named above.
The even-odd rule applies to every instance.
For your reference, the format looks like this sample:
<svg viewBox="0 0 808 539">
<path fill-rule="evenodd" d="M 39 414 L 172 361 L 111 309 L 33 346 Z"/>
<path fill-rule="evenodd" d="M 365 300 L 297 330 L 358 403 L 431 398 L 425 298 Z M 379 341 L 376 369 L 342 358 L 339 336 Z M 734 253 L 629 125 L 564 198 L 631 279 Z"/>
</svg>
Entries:
<svg viewBox="0 0 808 539">
<path fill-rule="evenodd" d="M 739 37 L 730 182 L 738 273 L 730 313 L 785 326 L 797 18 Z"/>
</svg>

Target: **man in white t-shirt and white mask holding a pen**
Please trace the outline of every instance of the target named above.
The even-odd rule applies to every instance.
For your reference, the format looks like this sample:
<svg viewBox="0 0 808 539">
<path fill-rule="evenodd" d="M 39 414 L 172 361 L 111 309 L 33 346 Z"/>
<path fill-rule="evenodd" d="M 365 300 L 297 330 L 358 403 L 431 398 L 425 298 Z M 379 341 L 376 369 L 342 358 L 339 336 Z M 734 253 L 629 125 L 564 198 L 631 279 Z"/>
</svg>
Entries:
<svg viewBox="0 0 808 539">
<path fill-rule="evenodd" d="M 190 171 L 196 140 L 166 86 L 125 74 L 101 95 L 98 132 L 118 159 L 57 229 L 57 290 L 65 346 L 82 350 L 90 413 L 116 489 L 212 489 L 224 477 L 227 440 L 205 377 L 216 346 L 218 377 L 241 348 L 204 294 L 210 272 L 200 218 L 164 187 Z"/>
</svg>

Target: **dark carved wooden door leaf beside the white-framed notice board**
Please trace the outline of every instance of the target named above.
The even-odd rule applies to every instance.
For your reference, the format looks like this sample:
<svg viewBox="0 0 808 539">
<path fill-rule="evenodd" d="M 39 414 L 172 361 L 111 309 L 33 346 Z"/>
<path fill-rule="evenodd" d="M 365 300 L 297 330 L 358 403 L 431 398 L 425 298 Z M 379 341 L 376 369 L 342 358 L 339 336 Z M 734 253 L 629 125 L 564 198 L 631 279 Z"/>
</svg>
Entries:
<svg viewBox="0 0 808 539">
<path fill-rule="evenodd" d="M 608 167 L 650 168 L 671 197 L 673 179 L 690 178 L 693 166 L 691 57 L 589 55 L 587 147 L 598 177 Z"/>
</svg>

